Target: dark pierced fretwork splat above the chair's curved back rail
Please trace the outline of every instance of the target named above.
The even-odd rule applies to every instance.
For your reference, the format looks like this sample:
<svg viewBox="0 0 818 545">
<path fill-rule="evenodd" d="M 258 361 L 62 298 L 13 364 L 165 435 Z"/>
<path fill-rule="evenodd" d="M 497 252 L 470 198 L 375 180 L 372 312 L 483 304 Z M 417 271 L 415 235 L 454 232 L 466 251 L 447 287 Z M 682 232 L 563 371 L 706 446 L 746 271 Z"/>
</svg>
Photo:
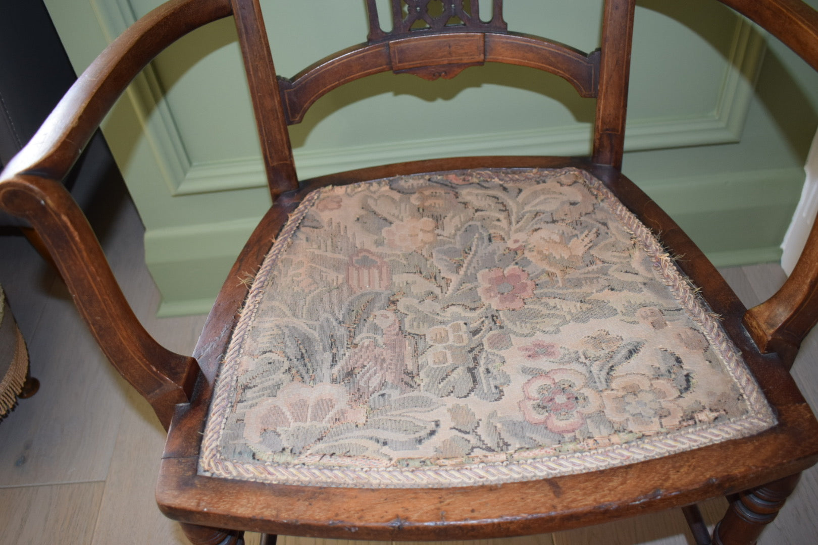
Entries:
<svg viewBox="0 0 818 545">
<path fill-rule="evenodd" d="M 384 32 L 380 28 L 378 8 L 375 0 L 366 0 L 366 11 L 369 14 L 369 36 L 370 43 L 380 42 L 384 39 L 401 38 L 415 33 L 423 32 L 505 32 L 506 21 L 503 20 L 502 0 L 492 0 L 492 20 L 483 22 L 480 20 L 479 0 L 392 0 L 392 30 Z M 439 14 L 433 15 L 430 11 L 437 3 L 441 7 Z M 404 11 L 404 7 L 406 10 Z M 452 24 L 452 20 L 456 20 Z M 420 22 L 420 28 L 413 28 Z"/>
</svg>

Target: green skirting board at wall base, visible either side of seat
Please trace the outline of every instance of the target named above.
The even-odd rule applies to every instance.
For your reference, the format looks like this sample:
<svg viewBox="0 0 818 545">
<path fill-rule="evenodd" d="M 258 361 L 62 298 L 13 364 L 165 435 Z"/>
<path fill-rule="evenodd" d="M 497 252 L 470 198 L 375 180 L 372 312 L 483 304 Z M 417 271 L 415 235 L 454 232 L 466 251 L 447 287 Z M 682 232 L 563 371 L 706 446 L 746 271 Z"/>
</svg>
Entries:
<svg viewBox="0 0 818 545">
<path fill-rule="evenodd" d="M 766 221 L 788 221 L 793 195 L 798 195 L 802 181 L 800 168 L 775 168 L 651 179 L 640 185 L 685 232 L 712 244 L 703 245 L 702 249 L 713 264 L 735 266 L 780 258 L 779 239 L 747 239 L 744 233 L 752 230 L 753 218 L 762 209 Z M 773 194 L 769 191 L 771 186 L 776 188 Z M 146 261 L 164 296 L 159 315 L 209 311 L 236 260 L 238 248 L 258 219 L 149 230 L 145 235 Z M 727 243 L 718 237 L 700 236 L 703 231 L 724 230 L 723 224 L 736 225 L 735 233 L 723 234 Z"/>
</svg>

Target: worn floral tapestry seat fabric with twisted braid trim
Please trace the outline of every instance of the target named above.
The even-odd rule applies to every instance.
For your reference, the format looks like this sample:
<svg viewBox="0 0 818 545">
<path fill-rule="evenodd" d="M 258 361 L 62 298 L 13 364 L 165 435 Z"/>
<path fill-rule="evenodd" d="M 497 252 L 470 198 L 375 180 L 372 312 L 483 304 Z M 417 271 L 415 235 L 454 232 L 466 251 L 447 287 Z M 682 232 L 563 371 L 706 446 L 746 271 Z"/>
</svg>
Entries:
<svg viewBox="0 0 818 545">
<path fill-rule="evenodd" d="M 233 333 L 199 472 L 483 485 L 774 423 L 718 317 L 600 181 L 435 172 L 303 200 Z"/>
</svg>

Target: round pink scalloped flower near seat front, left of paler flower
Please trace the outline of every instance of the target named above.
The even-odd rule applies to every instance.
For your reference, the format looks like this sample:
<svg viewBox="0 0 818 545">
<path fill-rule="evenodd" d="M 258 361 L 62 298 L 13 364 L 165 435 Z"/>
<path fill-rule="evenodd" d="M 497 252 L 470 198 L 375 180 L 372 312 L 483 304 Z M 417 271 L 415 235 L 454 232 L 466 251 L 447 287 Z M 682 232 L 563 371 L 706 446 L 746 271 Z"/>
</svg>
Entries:
<svg viewBox="0 0 818 545">
<path fill-rule="evenodd" d="M 519 407 L 532 424 L 544 424 L 555 433 L 573 433 L 585 425 L 587 414 L 602 408 L 600 395 L 586 382 L 582 373 L 572 369 L 537 375 L 523 385 Z"/>
</svg>

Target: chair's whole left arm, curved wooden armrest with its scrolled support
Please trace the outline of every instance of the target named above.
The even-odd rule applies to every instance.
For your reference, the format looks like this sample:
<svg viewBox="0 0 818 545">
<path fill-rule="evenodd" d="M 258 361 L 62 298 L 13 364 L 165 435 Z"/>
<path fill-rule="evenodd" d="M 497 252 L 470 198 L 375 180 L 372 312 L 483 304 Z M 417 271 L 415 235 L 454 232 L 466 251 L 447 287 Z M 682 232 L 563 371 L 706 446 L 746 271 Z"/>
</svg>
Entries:
<svg viewBox="0 0 818 545">
<path fill-rule="evenodd" d="M 94 60 L 0 175 L 0 208 L 34 227 L 102 350 L 166 428 L 174 405 L 190 399 L 198 364 L 166 350 L 142 327 L 60 180 L 151 59 L 184 34 L 231 13 L 228 0 L 176 0 L 151 11 Z"/>
</svg>

